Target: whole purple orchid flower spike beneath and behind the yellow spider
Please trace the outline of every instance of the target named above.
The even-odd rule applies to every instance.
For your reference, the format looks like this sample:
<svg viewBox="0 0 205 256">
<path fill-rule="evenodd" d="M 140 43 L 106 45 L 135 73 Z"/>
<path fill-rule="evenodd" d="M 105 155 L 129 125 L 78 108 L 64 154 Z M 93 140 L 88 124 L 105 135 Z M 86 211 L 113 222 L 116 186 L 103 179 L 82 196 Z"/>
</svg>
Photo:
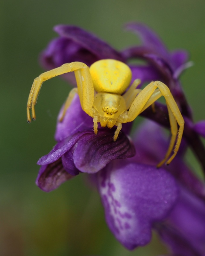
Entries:
<svg viewBox="0 0 205 256">
<path fill-rule="evenodd" d="M 178 253 L 175 249 L 177 245 L 173 245 L 176 237 L 182 240 L 177 247 L 180 250 L 183 250 L 183 243 L 190 241 L 190 236 L 184 235 L 185 225 L 180 226 L 181 233 L 177 229 L 174 233 L 169 232 L 177 223 L 174 212 L 180 212 L 180 202 L 183 203 L 186 197 L 181 195 L 183 191 L 188 191 L 184 194 L 189 193 L 200 202 L 205 198 L 204 184 L 182 160 L 188 145 L 205 169 L 205 149 L 199 137 L 202 124 L 199 128 L 193 124 L 190 107 L 178 81 L 178 76 L 190 64 L 186 62 L 185 51 L 169 52 L 145 25 L 130 24 L 128 28 L 141 37 L 143 44 L 118 52 L 81 28 L 58 25 L 54 30 L 59 37 L 42 52 L 41 63 L 46 69 L 51 69 L 72 61 L 82 61 L 90 66 L 97 60 L 107 58 L 121 60 L 128 65 L 133 58 L 146 60 L 146 65 L 130 65 L 132 79 L 140 78 L 142 84 L 161 80 L 169 86 L 185 117 L 186 141 L 182 142 L 180 152 L 169 167 L 156 169 L 156 164 L 164 157 L 164 146 L 167 147 L 161 129 L 146 124 L 138 132 L 134 144 L 129 138 L 132 123 L 123 124 L 122 133 L 116 142 L 113 142 L 112 129 L 99 127 L 95 135 L 93 120 L 83 112 L 76 95 L 63 121 L 57 123 L 56 146 L 38 161 L 42 166 L 36 184 L 49 192 L 79 173 L 92 174 L 105 208 L 107 224 L 121 244 L 129 250 L 143 246 L 150 242 L 151 230 L 155 228 L 172 251 Z M 72 80 L 70 75 L 66 75 L 66 79 Z M 155 110 L 153 113 L 148 108 L 142 116 L 169 127 L 167 108 L 156 103 Z M 59 117 L 61 114 L 62 110 Z M 187 202 L 193 210 L 194 204 L 189 200 Z M 203 207 L 198 205 L 197 211 L 202 211 L 203 217 Z M 202 231 L 201 241 L 203 234 Z M 200 246 L 193 244 L 193 250 L 197 251 Z M 190 256 L 202 255 L 200 250 L 198 254 Z"/>
</svg>

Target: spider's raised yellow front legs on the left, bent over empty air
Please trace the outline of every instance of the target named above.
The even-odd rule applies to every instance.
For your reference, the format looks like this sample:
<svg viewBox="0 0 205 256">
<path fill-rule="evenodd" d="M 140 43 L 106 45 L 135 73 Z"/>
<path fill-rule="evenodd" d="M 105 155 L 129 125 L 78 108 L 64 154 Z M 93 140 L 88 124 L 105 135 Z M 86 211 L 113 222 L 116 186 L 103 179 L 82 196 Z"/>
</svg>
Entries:
<svg viewBox="0 0 205 256">
<path fill-rule="evenodd" d="M 44 81 L 59 76 L 68 72 L 75 72 L 75 77 L 77 81 L 78 94 L 80 97 L 81 107 L 88 114 L 93 106 L 94 100 L 94 88 L 92 83 L 91 74 L 89 68 L 86 64 L 82 62 L 71 62 L 66 63 L 59 68 L 54 68 L 50 71 L 44 72 L 40 76 L 34 79 L 33 85 L 31 87 L 28 102 L 27 102 L 27 121 L 31 122 L 30 117 L 30 108 L 32 112 L 32 120 L 35 120 L 35 104 L 37 100 L 37 96 L 41 85 Z"/>
</svg>

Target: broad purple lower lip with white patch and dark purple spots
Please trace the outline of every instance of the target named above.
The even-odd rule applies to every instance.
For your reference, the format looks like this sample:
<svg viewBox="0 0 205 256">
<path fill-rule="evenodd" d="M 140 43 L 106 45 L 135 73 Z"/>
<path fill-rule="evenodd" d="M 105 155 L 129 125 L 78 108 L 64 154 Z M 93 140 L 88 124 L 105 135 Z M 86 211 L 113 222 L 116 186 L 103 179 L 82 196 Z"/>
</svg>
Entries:
<svg viewBox="0 0 205 256">
<path fill-rule="evenodd" d="M 149 243 L 153 222 L 164 219 L 177 199 L 174 178 L 163 169 L 128 160 L 114 161 L 98 175 L 114 236 L 129 250 Z"/>
</svg>

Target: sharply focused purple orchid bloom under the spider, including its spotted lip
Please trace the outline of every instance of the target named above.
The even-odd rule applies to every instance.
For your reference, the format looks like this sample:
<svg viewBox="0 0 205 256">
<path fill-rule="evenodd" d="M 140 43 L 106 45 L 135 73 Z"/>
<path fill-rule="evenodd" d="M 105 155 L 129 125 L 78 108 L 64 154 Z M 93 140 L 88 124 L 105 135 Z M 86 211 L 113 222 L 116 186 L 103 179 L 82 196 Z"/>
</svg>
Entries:
<svg viewBox="0 0 205 256">
<path fill-rule="evenodd" d="M 36 184 L 49 192 L 79 172 L 95 173 L 108 226 L 132 250 L 149 243 L 153 223 L 166 217 L 178 193 L 174 178 L 165 170 L 125 159 L 135 155 L 125 132 L 116 142 L 110 129 L 99 127 L 96 136 L 92 118 L 83 112 L 76 95 L 63 122 L 57 124 L 57 145 L 38 160 L 42 166 Z"/>
</svg>

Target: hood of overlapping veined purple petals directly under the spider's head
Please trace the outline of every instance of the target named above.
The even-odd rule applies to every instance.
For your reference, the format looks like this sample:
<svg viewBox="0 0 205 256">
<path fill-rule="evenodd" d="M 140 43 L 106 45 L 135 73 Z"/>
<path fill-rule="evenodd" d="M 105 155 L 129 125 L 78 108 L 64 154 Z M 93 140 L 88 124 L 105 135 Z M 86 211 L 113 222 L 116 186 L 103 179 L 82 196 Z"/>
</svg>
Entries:
<svg viewBox="0 0 205 256">
<path fill-rule="evenodd" d="M 99 129 L 83 131 L 58 142 L 51 152 L 42 156 L 37 164 L 51 164 L 62 157 L 64 169 L 72 175 L 81 172 L 95 173 L 115 159 L 128 158 L 135 155 L 135 148 L 128 137 L 121 132 L 114 142 L 115 129 Z M 73 158 L 73 160 L 72 160 Z"/>
</svg>

